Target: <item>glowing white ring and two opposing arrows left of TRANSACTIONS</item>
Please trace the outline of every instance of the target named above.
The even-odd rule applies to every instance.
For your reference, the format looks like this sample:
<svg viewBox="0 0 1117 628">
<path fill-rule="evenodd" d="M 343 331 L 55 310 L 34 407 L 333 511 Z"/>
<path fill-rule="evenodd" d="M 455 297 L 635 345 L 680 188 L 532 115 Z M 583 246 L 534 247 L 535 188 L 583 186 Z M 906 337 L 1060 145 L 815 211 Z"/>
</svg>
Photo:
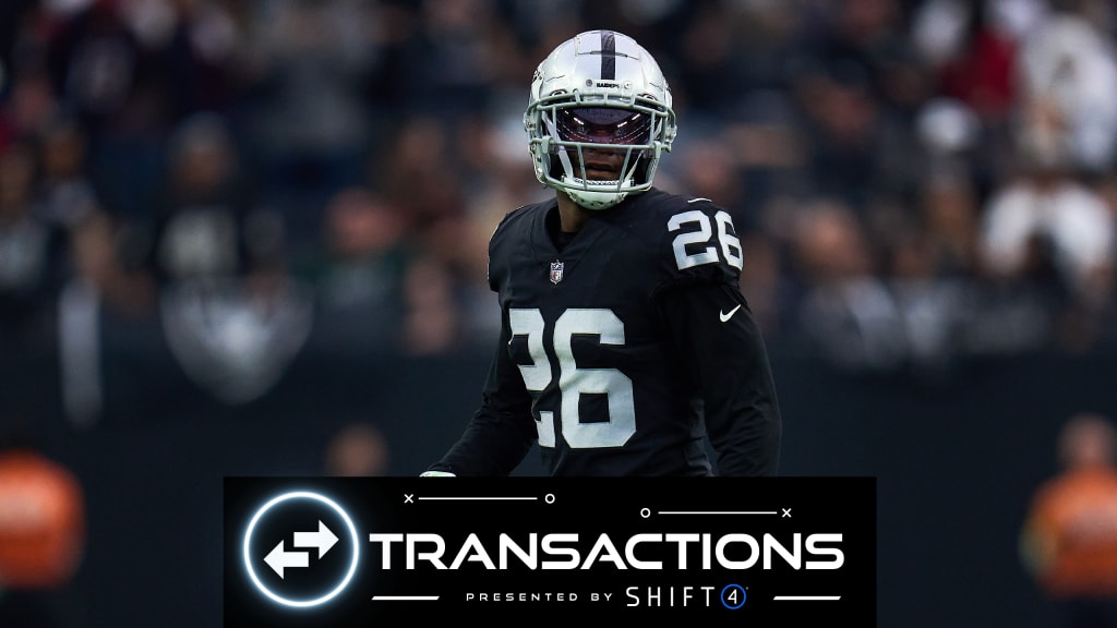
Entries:
<svg viewBox="0 0 1117 628">
<path fill-rule="evenodd" d="M 262 518 L 264 515 L 274 506 L 292 499 L 308 499 L 317 502 L 319 504 L 325 504 L 335 513 L 337 513 L 337 515 L 342 518 L 342 521 L 345 522 L 345 526 L 349 529 L 350 537 L 352 539 L 353 558 L 350 561 L 350 565 L 345 575 L 341 579 L 337 586 L 334 587 L 330 592 L 314 599 L 293 600 L 276 594 L 274 591 L 268 589 L 264 584 L 264 582 L 260 581 L 259 577 L 256 574 L 256 569 L 254 568 L 255 561 L 252 559 L 251 546 L 252 546 L 252 532 L 256 530 L 257 523 L 259 523 L 260 518 Z M 264 558 L 264 562 L 269 568 L 271 568 L 271 570 L 275 571 L 280 579 L 284 578 L 285 570 L 307 568 L 311 564 L 311 552 L 287 551 L 285 543 L 286 543 L 285 539 L 280 540 L 279 543 L 276 544 L 271 549 L 271 551 L 268 552 L 268 554 Z M 328 552 L 331 548 L 333 548 L 335 544 L 337 544 L 337 535 L 334 534 L 334 532 L 330 530 L 330 527 L 327 527 L 326 524 L 322 522 L 322 520 L 318 520 L 318 529 L 316 531 L 295 532 L 292 539 L 292 548 L 304 549 L 304 550 L 316 549 L 317 559 L 324 556 L 326 552 Z M 284 606 L 290 606 L 290 607 L 299 607 L 299 608 L 314 607 L 333 599 L 349 584 L 350 580 L 353 579 L 353 573 L 356 571 L 359 546 L 360 543 L 357 542 L 356 527 L 353 525 L 353 521 L 350 518 L 349 514 L 346 514 L 345 511 L 341 506 L 338 506 L 334 501 L 317 493 L 311 493 L 305 491 L 285 493 L 283 495 L 279 495 L 278 497 L 274 497 L 267 504 L 260 506 L 260 510 L 256 511 L 256 514 L 252 516 L 252 521 L 248 524 L 248 530 L 247 532 L 245 532 L 245 551 L 244 551 L 245 567 L 248 570 L 248 575 L 249 578 L 251 578 L 252 583 L 256 584 L 256 588 L 259 589 L 261 593 L 264 593 L 271 600 L 281 603 Z"/>
</svg>

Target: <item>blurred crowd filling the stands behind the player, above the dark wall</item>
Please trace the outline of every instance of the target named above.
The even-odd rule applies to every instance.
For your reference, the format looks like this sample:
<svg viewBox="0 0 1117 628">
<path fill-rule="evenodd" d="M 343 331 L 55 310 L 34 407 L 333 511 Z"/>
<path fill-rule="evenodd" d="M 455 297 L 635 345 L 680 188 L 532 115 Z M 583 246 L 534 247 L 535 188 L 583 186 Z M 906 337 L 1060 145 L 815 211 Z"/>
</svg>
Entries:
<svg viewBox="0 0 1117 628">
<path fill-rule="evenodd" d="M 770 344 L 1117 346 L 1106 0 L 4 0 L 0 346 L 80 364 L 90 326 L 155 321 L 214 387 L 214 353 L 281 363 L 312 330 L 487 350 L 488 236 L 553 196 L 528 80 L 592 28 L 663 67 L 657 185 L 734 213 Z"/>
</svg>

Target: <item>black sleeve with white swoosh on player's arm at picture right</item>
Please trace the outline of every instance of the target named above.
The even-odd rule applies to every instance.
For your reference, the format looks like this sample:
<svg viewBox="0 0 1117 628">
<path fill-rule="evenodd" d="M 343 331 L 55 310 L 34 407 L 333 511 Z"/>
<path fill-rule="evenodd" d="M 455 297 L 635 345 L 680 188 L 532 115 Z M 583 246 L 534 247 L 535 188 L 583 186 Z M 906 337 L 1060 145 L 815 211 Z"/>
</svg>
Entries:
<svg viewBox="0 0 1117 628">
<path fill-rule="evenodd" d="M 677 287 L 659 299 L 684 368 L 701 394 L 718 475 L 775 475 L 780 405 L 764 339 L 744 295 L 718 283 Z"/>
</svg>

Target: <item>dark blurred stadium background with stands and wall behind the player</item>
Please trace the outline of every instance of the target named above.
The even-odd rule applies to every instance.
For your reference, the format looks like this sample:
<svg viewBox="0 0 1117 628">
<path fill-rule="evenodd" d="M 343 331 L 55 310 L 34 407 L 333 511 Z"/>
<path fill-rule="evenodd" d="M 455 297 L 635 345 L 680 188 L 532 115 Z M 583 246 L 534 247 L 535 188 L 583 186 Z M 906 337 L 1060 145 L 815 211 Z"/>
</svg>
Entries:
<svg viewBox="0 0 1117 628">
<path fill-rule="evenodd" d="M 1115 18 L 6 0 L 0 436 L 75 473 L 88 534 L 73 580 L 29 598 L 60 627 L 217 625 L 222 476 L 439 456 L 496 333 L 487 237 L 548 194 L 527 80 L 608 27 L 672 84 L 657 183 L 742 231 L 783 473 L 879 478 L 879 625 L 1050 626 L 1019 527 L 1062 421 L 1117 416 Z"/>
</svg>

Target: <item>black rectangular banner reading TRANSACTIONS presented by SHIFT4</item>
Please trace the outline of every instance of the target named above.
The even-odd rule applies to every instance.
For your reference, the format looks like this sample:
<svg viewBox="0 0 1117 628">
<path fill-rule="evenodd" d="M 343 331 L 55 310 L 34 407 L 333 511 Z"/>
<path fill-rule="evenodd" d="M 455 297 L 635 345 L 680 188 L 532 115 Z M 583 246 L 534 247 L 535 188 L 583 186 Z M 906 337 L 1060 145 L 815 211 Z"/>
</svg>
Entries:
<svg viewBox="0 0 1117 628">
<path fill-rule="evenodd" d="M 227 627 L 863 627 L 876 563 L 871 477 L 225 480 Z"/>
</svg>

